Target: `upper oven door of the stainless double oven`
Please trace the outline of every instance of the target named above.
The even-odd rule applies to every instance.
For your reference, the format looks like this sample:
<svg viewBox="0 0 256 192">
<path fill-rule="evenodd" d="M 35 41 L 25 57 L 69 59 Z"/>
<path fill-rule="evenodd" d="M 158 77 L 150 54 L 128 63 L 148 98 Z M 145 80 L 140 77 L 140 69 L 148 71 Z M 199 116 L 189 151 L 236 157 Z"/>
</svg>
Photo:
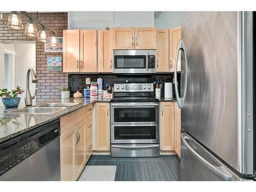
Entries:
<svg viewBox="0 0 256 192">
<path fill-rule="evenodd" d="M 159 103 L 111 103 L 111 124 L 159 123 Z"/>
</svg>

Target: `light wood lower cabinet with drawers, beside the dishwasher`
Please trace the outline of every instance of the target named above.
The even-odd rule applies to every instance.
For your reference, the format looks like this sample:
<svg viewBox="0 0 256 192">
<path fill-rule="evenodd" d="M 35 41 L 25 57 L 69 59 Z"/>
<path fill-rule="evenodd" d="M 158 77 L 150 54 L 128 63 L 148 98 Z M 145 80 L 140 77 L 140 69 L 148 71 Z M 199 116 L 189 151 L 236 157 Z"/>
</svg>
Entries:
<svg viewBox="0 0 256 192">
<path fill-rule="evenodd" d="M 60 118 L 61 181 L 76 180 L 92 155 L 92 106 Z"/>
</svg>

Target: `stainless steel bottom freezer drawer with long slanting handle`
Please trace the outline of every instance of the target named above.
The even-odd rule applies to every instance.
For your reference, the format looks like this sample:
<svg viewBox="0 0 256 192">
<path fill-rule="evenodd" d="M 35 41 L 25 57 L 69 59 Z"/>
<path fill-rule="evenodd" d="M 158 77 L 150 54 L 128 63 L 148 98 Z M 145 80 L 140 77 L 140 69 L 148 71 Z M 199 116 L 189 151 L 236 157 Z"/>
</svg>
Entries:
<svg viewBox="0 0 256 192">
<path fill-rule="evenodd" d="M 241 181 L 184 132 L 181 134 L 181 181 Z"/>
</svg>

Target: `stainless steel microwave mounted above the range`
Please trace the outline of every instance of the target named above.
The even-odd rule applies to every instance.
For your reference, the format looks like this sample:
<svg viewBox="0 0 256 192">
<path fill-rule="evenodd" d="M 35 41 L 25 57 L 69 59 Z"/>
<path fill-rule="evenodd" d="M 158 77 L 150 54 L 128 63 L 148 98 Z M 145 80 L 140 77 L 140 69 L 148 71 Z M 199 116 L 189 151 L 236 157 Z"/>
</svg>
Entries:
<svg viewBox="0 0 256 192">
<path fill-rule="evenodd" d="M 114 50 L 113 73 L 156 73 L 156 50 Z"/>
</svg>

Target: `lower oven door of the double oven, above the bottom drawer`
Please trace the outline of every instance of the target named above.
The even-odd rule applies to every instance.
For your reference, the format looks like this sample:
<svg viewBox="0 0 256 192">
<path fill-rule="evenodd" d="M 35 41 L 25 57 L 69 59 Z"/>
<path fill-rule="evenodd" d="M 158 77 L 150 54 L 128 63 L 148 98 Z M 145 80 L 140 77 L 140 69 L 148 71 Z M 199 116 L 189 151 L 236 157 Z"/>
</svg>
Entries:
<svg viewBox="0 0 256 192">
<path fill-rule="evenodd" d="M 159 124 L 112 124 L 111 143 L 159 143 Z"/>
</svg>

